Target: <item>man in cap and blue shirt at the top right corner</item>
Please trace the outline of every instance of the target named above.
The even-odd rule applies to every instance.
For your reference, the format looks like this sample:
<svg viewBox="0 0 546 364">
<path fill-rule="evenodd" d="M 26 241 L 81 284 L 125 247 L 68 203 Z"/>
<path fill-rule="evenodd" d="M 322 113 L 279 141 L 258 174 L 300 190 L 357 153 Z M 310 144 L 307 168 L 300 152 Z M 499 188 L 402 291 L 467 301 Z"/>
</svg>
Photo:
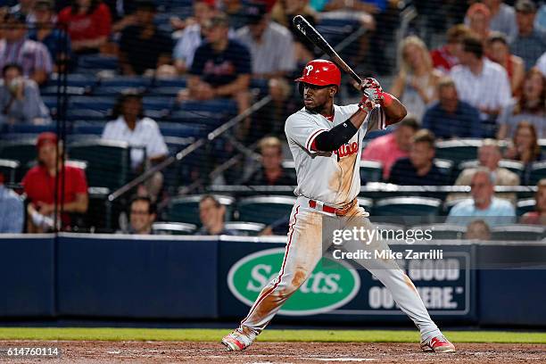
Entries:
<svg viewBox="0 0 546 364">
<path fill-rule="evenodd" d="M 536 5 L 531 0 L 517 0 L 517 37 L 512 40 L 512 54 L 523 58 L 525 70 L 530 70 L 546 51 L 546 33 L 534 28 Z"/>
</svg>

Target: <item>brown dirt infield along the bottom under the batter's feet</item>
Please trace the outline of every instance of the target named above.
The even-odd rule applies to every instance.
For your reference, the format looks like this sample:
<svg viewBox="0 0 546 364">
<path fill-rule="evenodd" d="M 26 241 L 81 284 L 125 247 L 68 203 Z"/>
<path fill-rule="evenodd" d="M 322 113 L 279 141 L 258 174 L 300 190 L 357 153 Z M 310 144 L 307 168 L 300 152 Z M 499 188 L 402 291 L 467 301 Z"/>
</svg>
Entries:
<svg viewBox="0 0 546 364">
<path fill-rule="evenodd" d="M 459 343 L 459 352 L 420 352 L 416 343 L 255 343 L 226 352 L 219 343 L 192 342 L 0 342 L 0 347 L 58 347 L 54 359 L 29 357 L 0 362 L 41 363 L 546 363 L 546 344 Z"/>
</svg>

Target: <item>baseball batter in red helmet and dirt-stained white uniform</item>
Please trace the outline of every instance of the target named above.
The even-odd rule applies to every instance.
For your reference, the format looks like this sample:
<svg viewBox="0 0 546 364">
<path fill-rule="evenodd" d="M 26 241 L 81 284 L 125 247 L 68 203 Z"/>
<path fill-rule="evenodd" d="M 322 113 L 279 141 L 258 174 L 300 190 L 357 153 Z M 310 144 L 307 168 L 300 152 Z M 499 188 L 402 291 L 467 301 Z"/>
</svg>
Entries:
<svg viewBox="0 0 546 364">
<path fill-rule="evenodd" d="M 333 62 L 314 60 L 305 66 L 300 82 L 302 110 L 285 122 L 285 134 L 294 156 L 298 186 L 290 215 L 288 242 L 278 276 L 269 282 L 252 305 L 241 325 L 222 342 L 230 351 L 252 344 L 283 303 L 307 280 L 323 252 L 323 217 L 361 218 L 365 228 L 374 227 L 369 214 L 357 201 L 360 192 L 362 140 L 374 129 L 383 129 L 406 115 L 393 95 L 383 92 L 376 79 L 365 79 L 360 103 L 334 104 L 341 72 Z M 385 242 L 374 242 L 387 249 Z M 362 249 L 369 249 L 362 243 Z M 415 285 L 393 260 L 356 260 L 393 294 L 393 299 L 418 327 L 425 352 L 455 352 L 430 318 Z"/>
</svg>

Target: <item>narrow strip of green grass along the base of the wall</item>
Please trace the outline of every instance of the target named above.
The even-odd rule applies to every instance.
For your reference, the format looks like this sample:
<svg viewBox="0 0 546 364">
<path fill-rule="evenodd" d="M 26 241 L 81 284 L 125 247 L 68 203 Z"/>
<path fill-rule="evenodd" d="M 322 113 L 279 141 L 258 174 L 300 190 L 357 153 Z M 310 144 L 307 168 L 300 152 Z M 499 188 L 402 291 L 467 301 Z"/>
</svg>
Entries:
<svg viewBox="0 0 546 364">
<path fill-rule="evenodd" d="M 219 342 L 228 329 L 0 327 L 0 340 L 106 340 Z M 546 333 L 447 331 L 455 343 L 546 343 Z M 265 330 L 269 342 L 415 343 L 416 330 Z"/>
</svg>

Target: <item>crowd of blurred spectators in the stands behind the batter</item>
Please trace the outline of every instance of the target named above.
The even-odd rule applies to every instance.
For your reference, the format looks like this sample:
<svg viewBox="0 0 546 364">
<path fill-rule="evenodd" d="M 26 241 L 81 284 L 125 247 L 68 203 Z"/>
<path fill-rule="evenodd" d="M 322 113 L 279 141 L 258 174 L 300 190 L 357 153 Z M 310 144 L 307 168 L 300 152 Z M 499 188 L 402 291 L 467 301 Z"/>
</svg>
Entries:
<svg viewBox="0 0 546 364">
<path fill-rule="evenodd" d="M 239 176 L 236 183 L 294 186 L 294 170 L 283 167 L 288 157 L 283 155 L 284 122 L 302 107 L 292 84 L 294 75 L 318 53 L 294 29 L 292 18 L 303 14 L 311 24 L 357 21 L 368 31 L 353 43 L 351 59 L 367 64 L 367 57 L 369 62 L 376 60 L 376 54 L 385 54 L 376 45 L 385 45 L 383 36 L 391 37 L 387 29 L 397 21 L 388 23 L 385 14 L 397 13 L 399 3 L 195 0 L 191 13 L 173 12 L 168 19 L 161 17 L 166 5 L 153 0 L 0 2 L 0 128 L 51 124 L 52 114 L 40 89 L 59 72 L 78 72 L 78 59 L 93 54 L 114 57 L 119 64 L 116 76 L 186 79 L 186 87 L 179 87 L 172 96 L 173 103 L 231 100 L 241 113 L 257 100 L 252 85 L 259 84 L 271 102 L 244 118 L 235 137 L 244 147 L 257 147 L 260 157 L 256 168 Z M 534 185 L 534 163 L 544 158 L 539 139 L 546 138 L 546 17 L 542 16 L 546 7 L 539 8 L 532 0 L 462 3 L 467 3 L 461 5 L 464 11 L 450 18 L 458 21 L 449 23 L 450 28 L 441 34 L 443 43 L 430 42 L 428 35 L 413 31 L 395 45 L 397 68 L 382 83 L 401 99 L 410 115 L 390 133 L 370 140 L 362 159 L 381 162 L 383 182 L 471 186 L 470 194 L 448 196 L 447 201 L 454 203 L 449 220 L 472 216 L 483 218 L 482 223 L 491 227 L 496 224 L 489 220 L 492 216 L 515 219 L 517 203 L 516 194 L 494 194 L 493 186 Z M 433 18 L 427 14 L 427 19 Z M 385 34 L 380 20 L 385 21 Z M 132 147 L 131 177 L 169 156 L 159 120 L 145 116 L 140 91 L 120 93 L 108 115 L 101 137 Z M 476 159 L 476 164 L 451 178 L 435 162 L 435 145 L 459 138 L 484 143 L 477 155 L 467 158 Z M 83 171 L 70 165 L 58 170 L 63 149 L 54 135 L 37 138 L 38 164 L 22 179 L 29 201 L 26 231 L 52 230 L 54 221 L 69 227 L 69 213 L 87 211 Z M 502 159 L 521 162 L 520 175 L 501 167 Z M 64 173 L 68 182 L 63 191 L 55 192 L 58 173 Z M 160 216 L 156 203 L 161 206 L 164 178 L 155 173 L 135 191 L 136 198 L 127 209 L 131 233 L 152 232 L 153 221 Z M 63 196 L 62 216 L 54 216 L 61 210 L 54 207 L 54 196 Z M 13 197 L 0 184 L 0 198 L 15 203 Z M 543 183 L 539 183 L 537 211 L 525 215 L 525 223 L 544 223 L 544 200 Z M 229 233 L 223 227 L 222 209 L 213 196 L 201 201 L 200 233 Z M 18 211 L 12 210 L 0 210 L 0 217 Z M 2 230 L 13 231 L 12 227 Z"/>
</svg>

